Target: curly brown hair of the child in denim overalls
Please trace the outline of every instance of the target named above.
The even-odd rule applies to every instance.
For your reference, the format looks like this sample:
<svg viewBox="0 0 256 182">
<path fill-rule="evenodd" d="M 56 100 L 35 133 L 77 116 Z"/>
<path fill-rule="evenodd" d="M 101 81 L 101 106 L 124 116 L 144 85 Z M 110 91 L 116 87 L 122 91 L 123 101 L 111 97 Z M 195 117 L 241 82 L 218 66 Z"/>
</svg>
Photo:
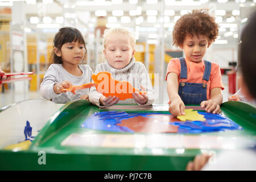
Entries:
<svg viewBox="0 0 256 182">
<path fill-rule="evenodd" d="M 181 16 L 175 23 L 172 32 L 174 46 L 181 46 L 187 34 L 205 35 L 209 43 L 212 43 L 218 36 L 218 24 L 215 18 L 208 14 L 208 10 L 193 10 L 192 13 Z"/>
</svg>

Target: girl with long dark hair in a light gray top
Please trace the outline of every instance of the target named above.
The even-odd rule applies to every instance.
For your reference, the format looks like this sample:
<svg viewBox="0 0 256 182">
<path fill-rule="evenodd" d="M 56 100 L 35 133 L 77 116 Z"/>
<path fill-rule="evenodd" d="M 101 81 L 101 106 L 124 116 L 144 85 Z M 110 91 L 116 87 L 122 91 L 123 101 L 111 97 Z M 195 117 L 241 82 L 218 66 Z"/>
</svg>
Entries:
<svg viewBox="0 0 256 182">
<path fill-rule="evenodd" d="M 63 91 L 72 85 L 92 82 L 92 69 L 89 65 L 80 64 L 85 53 L 85 42 L 81 32 L 72 27 L 60 28 L 53 39 L 51 65 L 40 85 L 40 94 L 43 98 L 62 104 L 78 99 L 89 100 L 89 89 L 77 90 L 76 94 Z"/>
</svg>

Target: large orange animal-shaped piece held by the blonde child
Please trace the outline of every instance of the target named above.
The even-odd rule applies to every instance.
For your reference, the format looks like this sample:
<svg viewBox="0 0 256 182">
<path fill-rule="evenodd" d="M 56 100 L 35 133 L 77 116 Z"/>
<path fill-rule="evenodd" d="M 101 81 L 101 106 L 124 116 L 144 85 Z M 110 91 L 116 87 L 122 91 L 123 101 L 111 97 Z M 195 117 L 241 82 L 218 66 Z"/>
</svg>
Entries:
<svg viewBox="0 0 256 182">
<path fill-rule="evenodd" d="M 100 72 L 97 75 L 92 75 L 92 79 L 97 84 L 97 91 L 105 97 L 116 96 L 119 97 L 119 100 L 126 100 L 127 98 L 133 98 L 135 91 L 139 94 L 146 94 L 146 92 L 139 92 L 130 82 L 114 80 L 109 72 Z"/>
</svg>

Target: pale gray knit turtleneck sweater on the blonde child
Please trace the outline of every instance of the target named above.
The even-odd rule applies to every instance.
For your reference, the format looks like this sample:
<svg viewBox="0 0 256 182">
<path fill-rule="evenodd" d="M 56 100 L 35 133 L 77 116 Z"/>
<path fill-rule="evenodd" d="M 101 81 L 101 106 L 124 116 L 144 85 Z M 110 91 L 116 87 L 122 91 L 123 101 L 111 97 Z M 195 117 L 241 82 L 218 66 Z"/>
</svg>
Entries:
<svg viewBox="0 0 256 182">
<path fill-rule="evenodd" d="M 150 77 L 147 74 L 144 64 L 135 62 L 131 59 L 130 63 L 122 69 L 115 69 L 108 62 L 98 64 L 94 72 L 97 75 L 99 72 L 110 72 L 115 80 L 128 81 L 135 89 L 142 91 L 141 85 L 146 89 L 148 101 L 144 105 L 151 105 L 154 102 L 154 91 L 150 82 Z M 100 107 L 100 98 L 103 96 L 97 92 L 95 87 L 92 87 L 89 92 L 89 100 L 94 105 Z M 138 104 L 133 98 L 127 100 L 120 100 L 118 104 Z M 139 105 L 139 104 L 138 104 Z"/>
</svg>

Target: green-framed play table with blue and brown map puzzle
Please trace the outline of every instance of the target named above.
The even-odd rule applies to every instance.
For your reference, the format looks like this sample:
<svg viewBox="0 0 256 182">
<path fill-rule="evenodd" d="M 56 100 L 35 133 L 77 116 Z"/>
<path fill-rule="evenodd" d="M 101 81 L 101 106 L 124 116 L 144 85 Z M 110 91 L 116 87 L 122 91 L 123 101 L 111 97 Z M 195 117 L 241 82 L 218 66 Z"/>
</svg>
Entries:
<svg viewBox="0 0 256 182">
<path fill-rule="evenodd" d="M 0 169 L 184 170 L 197 154 L 254 144 L 256 109 L 225 102 L 205 121 L 179 121 L 168 105 L 98 108 L 36 99 L 0 110 Z"/>
</svg>

